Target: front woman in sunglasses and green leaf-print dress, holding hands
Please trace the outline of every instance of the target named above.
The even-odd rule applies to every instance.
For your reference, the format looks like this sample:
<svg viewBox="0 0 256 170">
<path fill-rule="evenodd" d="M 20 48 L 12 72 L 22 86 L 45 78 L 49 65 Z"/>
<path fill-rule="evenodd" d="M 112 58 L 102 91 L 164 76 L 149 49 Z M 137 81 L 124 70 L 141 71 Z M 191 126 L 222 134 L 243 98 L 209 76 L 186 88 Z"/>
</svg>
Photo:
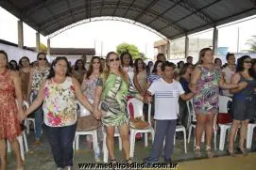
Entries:
<svg viewBox="0 0 256 170">
<path fill-rule="evenodd" d="M 112 163 L 117 162 L 113 154 L 113 134 L 115 127 L 118 127 L 121 135 L 126 162 L 132 162 L 129 158 L 128 95 L 143 100 L 143 97 L 138 95 L 132 86 L 128 74 L 121 68 L 118 55 L 110 52 L 106 57 L 106 68 L 100 75 L 95 89 L 94 116 L 97 119 L 101 118 L 103 125 L 106 127 L 107 147 Z M 98 111 L 100 101 L 102 101 L 102 114 Z"/>
</svg>

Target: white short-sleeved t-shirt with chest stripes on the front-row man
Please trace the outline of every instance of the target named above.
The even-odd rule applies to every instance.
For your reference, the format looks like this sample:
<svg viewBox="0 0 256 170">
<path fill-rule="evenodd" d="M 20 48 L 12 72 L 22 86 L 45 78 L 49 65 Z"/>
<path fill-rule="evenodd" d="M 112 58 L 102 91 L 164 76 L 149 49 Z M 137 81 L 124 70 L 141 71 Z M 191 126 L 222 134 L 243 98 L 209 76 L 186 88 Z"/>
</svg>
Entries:
<svg viewBox="0 0 256 170">
<path fill-rule="evenodd" d="M 168 84 L 162 78 L 154 81 L 148 91 L 155 94 L 155 119 L 173 120 L 178 118 L 179 96 L 184 94 L 184 90 L 179 82 L 173 80 Z"/>
</svg>

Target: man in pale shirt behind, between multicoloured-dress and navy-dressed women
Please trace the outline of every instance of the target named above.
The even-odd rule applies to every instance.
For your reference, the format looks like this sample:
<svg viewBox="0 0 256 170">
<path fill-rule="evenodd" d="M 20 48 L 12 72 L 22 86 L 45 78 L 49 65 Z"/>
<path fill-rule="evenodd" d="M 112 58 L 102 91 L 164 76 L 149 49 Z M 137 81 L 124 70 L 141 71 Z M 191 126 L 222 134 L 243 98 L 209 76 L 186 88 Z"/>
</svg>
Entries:
<svg viewBox="0 0 256 170">
<path fill-rule="evenodd" d="M 235 56 L 234 54 L 228 53 L 226 55 L 226 60 L 228 62 L 228 66 L 222 70 L 223 77 L 226 81 L 226 83 L 230 84 L 231 77 L 235 73 Z M 232 94 L 230 94 L 230 90 L 222 90 L 222 93 L 224 96 L 232 97 Z"/>
</svg>

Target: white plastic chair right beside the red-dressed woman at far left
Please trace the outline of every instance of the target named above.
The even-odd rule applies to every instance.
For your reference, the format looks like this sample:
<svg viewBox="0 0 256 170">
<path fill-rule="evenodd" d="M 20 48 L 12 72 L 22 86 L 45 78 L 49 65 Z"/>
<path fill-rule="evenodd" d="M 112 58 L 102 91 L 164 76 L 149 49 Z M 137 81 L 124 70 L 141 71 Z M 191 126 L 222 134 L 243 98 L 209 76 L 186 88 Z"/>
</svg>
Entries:
<svg viewBox="0 0 256 170">
<path fill-rule="evenodd" d="M 16 103 L 17 103 L 17 100 L 16 100 Z M 29 104 L 25 100 L 23 101 L 23 105 L 26 109 L 28 109 Z M 24 149 L 25 149 L 26 152 L 28 151 L 28 146 L 27 146 L 27 141 L 26 141 L 26 129 L 22 131 L 21 135 L 17 136 L 17 140 L 18 140 L 19 145 L 20 145 L 21 157 L 22 157 L 23 161 L 25 161 Z M 8 152 L 10 152 L 11 149 L 10 149 L 9 141 L 7 141 L 7 145 L 8 145 Z"/>
</svg>

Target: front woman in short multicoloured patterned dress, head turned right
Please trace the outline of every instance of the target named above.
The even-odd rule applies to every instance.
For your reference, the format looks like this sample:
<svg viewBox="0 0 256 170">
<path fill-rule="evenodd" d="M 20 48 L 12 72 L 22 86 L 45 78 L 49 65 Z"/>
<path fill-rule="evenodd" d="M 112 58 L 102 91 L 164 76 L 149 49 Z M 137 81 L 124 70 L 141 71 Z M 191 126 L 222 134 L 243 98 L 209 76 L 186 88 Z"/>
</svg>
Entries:
<svg viewBox="0 0 256 170">
<path fill-rule="evenodd" d="M 199 60 L 192 73 L 190 89 L 199 93 L 194 97 L 196 112 L 196 157 L 200 157 L 200 141 L 203 131 L 206 131 L 206 151 L 208 158 L 213 158 L 212 136 L 213 119 L 218 112 L 219 86 L 230 89 L 238 85 L 226 84 L 221 70 L 213 64 L 213 50 L 204 48 L 199 53 Z"/>
</svg>

